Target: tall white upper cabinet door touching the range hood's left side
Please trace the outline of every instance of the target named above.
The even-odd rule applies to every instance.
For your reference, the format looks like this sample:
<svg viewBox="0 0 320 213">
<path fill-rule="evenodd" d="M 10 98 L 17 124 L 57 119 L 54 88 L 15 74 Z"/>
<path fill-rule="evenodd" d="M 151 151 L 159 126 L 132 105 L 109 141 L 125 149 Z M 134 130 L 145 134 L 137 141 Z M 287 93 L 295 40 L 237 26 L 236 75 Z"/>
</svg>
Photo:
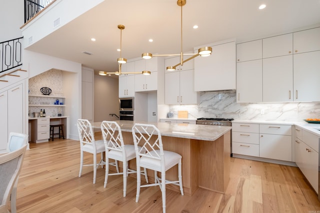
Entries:
<svg viewBox="0 0 320 213">
<path fill-rule="evenodd" d="M 180 71 L 180 104 L 197 104 L 197 93 L 194 91 L 194 71 Z"/>
</svg>

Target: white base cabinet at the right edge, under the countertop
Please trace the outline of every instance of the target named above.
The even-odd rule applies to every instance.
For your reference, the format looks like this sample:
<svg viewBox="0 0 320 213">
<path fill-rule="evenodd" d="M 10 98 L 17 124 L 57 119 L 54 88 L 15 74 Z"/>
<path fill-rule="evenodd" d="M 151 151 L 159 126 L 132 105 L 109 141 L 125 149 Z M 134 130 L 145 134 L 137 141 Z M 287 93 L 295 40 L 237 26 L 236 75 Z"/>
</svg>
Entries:
<svg viewBox="0 0 320 213">
<path fill-rule="evenodd" d="M 302 140 L 295 138 L 295 163 L 318 193 L 318 151 L 310 145 L 318 146 L 319 137 L 302 130 Z"/>
</svg>

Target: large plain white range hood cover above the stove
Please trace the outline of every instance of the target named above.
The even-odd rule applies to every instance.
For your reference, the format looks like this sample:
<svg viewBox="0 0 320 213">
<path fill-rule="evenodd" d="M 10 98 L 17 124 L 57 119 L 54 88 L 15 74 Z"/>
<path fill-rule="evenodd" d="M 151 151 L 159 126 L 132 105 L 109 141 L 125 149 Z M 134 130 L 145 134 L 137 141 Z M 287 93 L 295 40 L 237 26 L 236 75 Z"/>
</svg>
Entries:
<svg viewBox="0 0 320 213">
<path fill-rule="evenodd" d="M 194 58 L 194 91 L 234 90 L 235 42 L 211 47 L 210 56 Z"/>
</svg>

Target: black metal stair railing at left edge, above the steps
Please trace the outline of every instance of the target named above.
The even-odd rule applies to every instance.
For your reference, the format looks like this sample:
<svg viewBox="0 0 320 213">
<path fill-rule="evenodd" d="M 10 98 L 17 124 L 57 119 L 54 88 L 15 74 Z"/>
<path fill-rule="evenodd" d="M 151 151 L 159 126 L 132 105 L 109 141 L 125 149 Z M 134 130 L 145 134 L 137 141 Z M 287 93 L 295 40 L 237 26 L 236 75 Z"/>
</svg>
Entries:
<svg viewBox="0 0 320 213">
<path fill-rule="evenodd" d="M 22 65 L 22 39 L 0 42 L 0 73 Z"/>
</svg>

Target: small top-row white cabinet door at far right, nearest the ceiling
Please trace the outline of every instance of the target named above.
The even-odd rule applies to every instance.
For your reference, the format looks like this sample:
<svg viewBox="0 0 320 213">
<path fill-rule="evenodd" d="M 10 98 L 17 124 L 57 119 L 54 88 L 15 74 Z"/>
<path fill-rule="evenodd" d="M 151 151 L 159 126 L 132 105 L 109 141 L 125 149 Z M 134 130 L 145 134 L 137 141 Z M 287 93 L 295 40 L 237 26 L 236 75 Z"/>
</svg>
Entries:
<svg viewBox="0 0 320 213">
<path fill-rule="evenodd" d="M 320 27 L 293 33 L 294 53 L 320 50 Z"/>
</svg>

